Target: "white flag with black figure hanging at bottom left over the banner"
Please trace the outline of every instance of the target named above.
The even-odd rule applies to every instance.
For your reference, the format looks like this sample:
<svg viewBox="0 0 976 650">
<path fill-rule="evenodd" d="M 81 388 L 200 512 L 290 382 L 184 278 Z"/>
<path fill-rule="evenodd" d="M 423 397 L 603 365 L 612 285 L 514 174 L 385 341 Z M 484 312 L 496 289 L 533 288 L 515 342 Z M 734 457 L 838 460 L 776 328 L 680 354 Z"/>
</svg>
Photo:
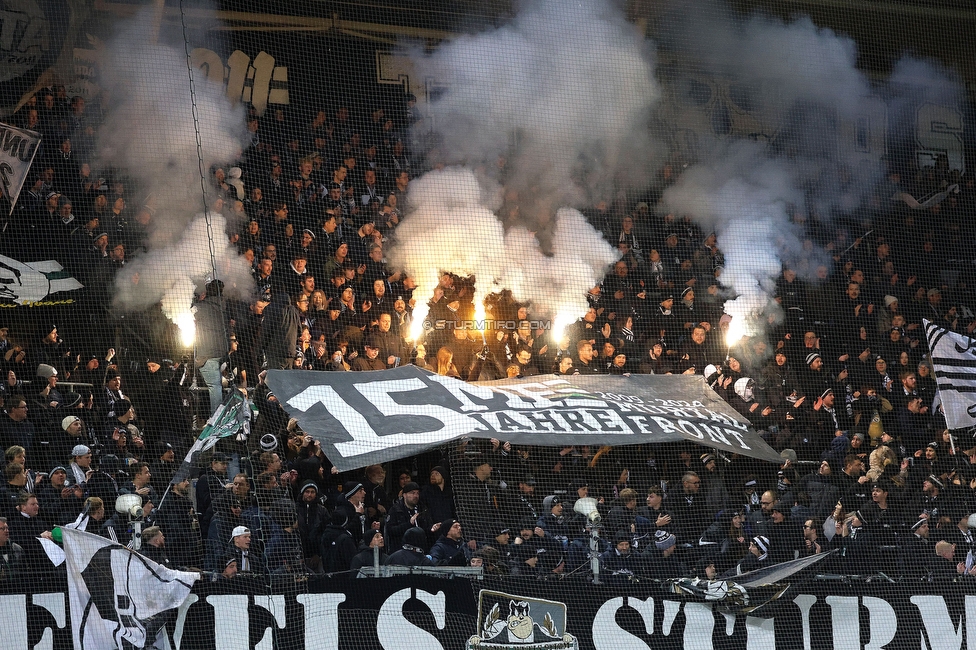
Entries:
<svg viewBox="0 0 976 650">
<path fill-rule="evenodd" d="M 61 532 L 77 650 L 151 646 L 149 619 L 179 607 L 200 579 L 199 573 L 167 569 L 104 537 L 74 528 Z"/>
</svg>

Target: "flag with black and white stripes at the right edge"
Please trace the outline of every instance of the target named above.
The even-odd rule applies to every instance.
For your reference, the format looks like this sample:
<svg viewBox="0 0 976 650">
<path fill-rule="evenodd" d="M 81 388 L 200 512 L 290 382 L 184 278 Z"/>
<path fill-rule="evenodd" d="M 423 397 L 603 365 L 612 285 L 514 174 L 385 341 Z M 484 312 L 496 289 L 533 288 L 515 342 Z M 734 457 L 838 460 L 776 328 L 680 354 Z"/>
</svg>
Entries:
<svg viewBox="0 0 976 650">
<path fill-rule="evenodd" d="M 924 322 L 946 426 L 976 426 L 976 338 Z"/>
</svg>

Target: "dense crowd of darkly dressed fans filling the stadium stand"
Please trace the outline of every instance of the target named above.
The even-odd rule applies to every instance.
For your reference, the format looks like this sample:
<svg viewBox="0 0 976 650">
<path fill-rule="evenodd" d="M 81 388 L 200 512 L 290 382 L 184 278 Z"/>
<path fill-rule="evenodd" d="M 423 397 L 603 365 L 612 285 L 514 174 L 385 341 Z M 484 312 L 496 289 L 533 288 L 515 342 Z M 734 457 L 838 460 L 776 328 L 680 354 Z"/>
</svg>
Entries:
<svg viewBox="0 0 976 650">
<path fill-rule="evenodd" d="M 111 297 L 155 214 L 124 170 L 92 168 L 96 112 L 45 89 L 16 116 L 45 145 L 4 235 L 17 259 L 61 261 L 95 296 L 86 304 Z M 132 522 L 114 507 L 121 494 L 141 497 L 142 552 L 228 578 L 357 569 L 374 548 L 390 564 L 584 575 L 590 532 L 576 506 L 590 498 L 604 570 L 626 579 L 734 574 L 835 549 L 827 563 L 838 573 L 976 576 L 976 446 L 945 429 L 922 326 L 976 328 L 971 179 L 944 159 L 911 174 L 892 168 L 872 208 L 797 216 L 809 257 L 784 266 L 775 305 L 755 315 L 759 334 L 729 346 L 722 242 L 693 215 L 657 209 L 679 173 L 668 165 L 643 195 L 584 210 L 620 252 L 586 314 L 554 335 L 531 325 L 546 306 L 492 295 L 489 313 L 517 326 L 483 340 L 452 327 L 473 315 L 476 278 L 444 273 L 432 296 L 415 296 L 385 263 L 410 213 L 410 179 L 443 152 L 410 140 L 409 96 L 392 117 L 382 108 L 361 117 L 347 107 L 306 122 L 283 108 L 252 113 L 241 160 L 210 170 L 213 208 L 251 261 L 256 291 L 230 300 L 219 281 L 201 288 L 195 359 L 160 351 L 119 363 L 111 341 L 85 326 L 100 312 L 61 329 L 0 323 L 0 577 L 49 572 L 37 538 L 76 520 L 129 543 Z M 890 198 L 954 183 L 958 193 L 927 209 Z M 421 300 L 446 326 L 414 341 Z M 686 446 L 494 440 L 339 474 L 263 382 L 267 369 L 407 363 L 464 380 L 701 375 L 783 463 Z M 225 391 L 245 390 L 258 415 L 246 440 L 222 441 L 198 476 L 171 485 L 193 441 L 197 370 L 211 410 Z"/>
</svg>

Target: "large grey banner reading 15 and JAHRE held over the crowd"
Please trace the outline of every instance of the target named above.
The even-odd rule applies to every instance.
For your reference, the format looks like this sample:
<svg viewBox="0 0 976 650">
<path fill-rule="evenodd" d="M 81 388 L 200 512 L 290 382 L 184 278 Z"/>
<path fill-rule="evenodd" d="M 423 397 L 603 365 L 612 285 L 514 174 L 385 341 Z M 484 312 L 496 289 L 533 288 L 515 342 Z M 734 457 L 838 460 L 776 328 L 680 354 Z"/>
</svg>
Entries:
<svg viewBox="0 0 976 650">
<path fill-rule="evenodd" d="M 686 441 L 782 461 L 695 376 L 539 375 L 467 383 L 411 365 L 363 373 L 272 370 L 267 382 L 340 471 L 465 436 L 549 446 Z"/>
</svg>

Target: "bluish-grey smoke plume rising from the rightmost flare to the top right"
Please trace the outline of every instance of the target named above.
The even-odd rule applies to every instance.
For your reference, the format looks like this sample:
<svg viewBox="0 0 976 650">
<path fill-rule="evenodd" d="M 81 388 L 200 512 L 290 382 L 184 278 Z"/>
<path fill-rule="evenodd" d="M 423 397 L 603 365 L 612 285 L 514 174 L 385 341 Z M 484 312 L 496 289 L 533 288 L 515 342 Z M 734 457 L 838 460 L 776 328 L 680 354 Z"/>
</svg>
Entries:
<svg viewBox="0 0 976 650">
<path fill-rule="evenodd" d="M 826 258 L 802 250 L 796 217 L 828 220 L 873 198 L 885 171 L 878 149 L 897 140 L 888 138 L 893 124 L 884 116 L 913 128 L 899 106 L 945 100 L 958 90 L 933 65 L 910 58 L 895 66 L 888 83 L 872 83 L 857 68 L 855 43 L 809 18 L 688 15 L 694 19 L 678 30 L 674 47 L 710 74 L 760 89 L 759 110 L 776 125 L 764 145 L 706 146 L 703 162 L 664 194 L 668 209 L 716 232 L 726 255 L 721 280 L 739 296 L 726 311 L 734 317 L 733 333 L 742 334 L 750 314 L 771 308 L 783 263 L 797 268 L 804 255 Z M 819 260 L 807 261 L 812 270 Z"/>
</svg>

